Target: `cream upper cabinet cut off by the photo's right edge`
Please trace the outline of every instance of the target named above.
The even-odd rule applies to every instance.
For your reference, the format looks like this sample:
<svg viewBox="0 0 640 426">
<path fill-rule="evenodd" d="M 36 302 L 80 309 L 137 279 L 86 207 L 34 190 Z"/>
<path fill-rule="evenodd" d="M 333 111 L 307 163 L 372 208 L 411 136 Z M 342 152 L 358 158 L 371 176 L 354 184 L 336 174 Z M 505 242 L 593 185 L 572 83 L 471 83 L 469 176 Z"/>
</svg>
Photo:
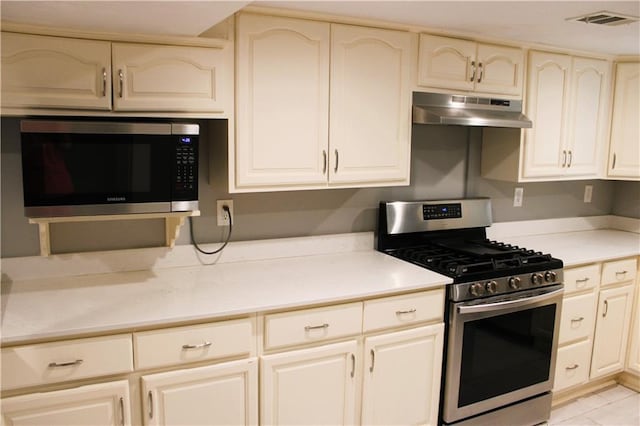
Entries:
<svg viewBox="0 0 640 426">
<path fill-rule="evenodd" d="M 640 63 L 616 65 L 611 136 L 610 178 L 640 179 Z"/>
</svg>

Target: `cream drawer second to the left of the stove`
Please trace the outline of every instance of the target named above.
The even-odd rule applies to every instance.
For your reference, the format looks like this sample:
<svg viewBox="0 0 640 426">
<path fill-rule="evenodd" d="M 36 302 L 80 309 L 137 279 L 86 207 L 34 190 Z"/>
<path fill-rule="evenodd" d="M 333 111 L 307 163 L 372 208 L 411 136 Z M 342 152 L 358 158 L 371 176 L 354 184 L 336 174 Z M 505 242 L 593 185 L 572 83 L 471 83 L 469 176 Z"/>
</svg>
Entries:
<svg viewBox="0 0 640 426">
<path fill-rule="evenodd" d="M 320 342 L 362 332 L 362 303 L 305 309 L 265 316 L 264 346 L 283 346 Z"/>
</svg>

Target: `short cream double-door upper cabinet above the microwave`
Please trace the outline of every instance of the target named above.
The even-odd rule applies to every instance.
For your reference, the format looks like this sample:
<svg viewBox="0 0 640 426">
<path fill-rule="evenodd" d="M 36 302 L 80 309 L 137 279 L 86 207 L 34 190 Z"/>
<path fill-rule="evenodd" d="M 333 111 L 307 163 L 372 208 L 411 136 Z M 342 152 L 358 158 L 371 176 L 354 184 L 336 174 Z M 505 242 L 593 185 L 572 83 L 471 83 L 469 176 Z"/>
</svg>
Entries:
<svg viewBox="0 0 640 426">
<path fill-rule="evenodd" d="M 4 108 L 229 114 L 233 105 L 233 50 L 225 44 L 2 33 L 2 71 Z"/>
</svg>

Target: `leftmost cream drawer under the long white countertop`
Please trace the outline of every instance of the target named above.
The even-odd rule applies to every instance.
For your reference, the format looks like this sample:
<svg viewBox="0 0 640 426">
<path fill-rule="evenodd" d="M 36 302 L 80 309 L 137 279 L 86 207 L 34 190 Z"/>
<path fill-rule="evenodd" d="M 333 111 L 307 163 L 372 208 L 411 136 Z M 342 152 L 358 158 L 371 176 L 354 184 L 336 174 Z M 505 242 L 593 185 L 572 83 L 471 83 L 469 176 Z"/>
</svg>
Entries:
<svg viewBox="0 0 640 426">
<path fill-rule="evenodd" d="M 4 390 L 130 371 L 130 334 L 2 349 Z"/>
</svg>

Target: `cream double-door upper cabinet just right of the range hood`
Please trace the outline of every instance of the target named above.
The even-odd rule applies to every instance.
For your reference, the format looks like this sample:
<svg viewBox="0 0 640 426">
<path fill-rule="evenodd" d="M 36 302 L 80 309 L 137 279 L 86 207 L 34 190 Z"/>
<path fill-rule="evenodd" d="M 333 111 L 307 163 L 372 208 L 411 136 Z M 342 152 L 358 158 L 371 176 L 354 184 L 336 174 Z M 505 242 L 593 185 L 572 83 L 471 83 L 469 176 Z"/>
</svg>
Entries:
<svg viewBox="0 0 640 426">
<path fill-rule="evenodd" d="M 600 59 L 530 51 L 525 113 L 533 127 L 485 129 L 482 176 L 522 182 L 600 177 L 609 69 Z"/>
</svg>

